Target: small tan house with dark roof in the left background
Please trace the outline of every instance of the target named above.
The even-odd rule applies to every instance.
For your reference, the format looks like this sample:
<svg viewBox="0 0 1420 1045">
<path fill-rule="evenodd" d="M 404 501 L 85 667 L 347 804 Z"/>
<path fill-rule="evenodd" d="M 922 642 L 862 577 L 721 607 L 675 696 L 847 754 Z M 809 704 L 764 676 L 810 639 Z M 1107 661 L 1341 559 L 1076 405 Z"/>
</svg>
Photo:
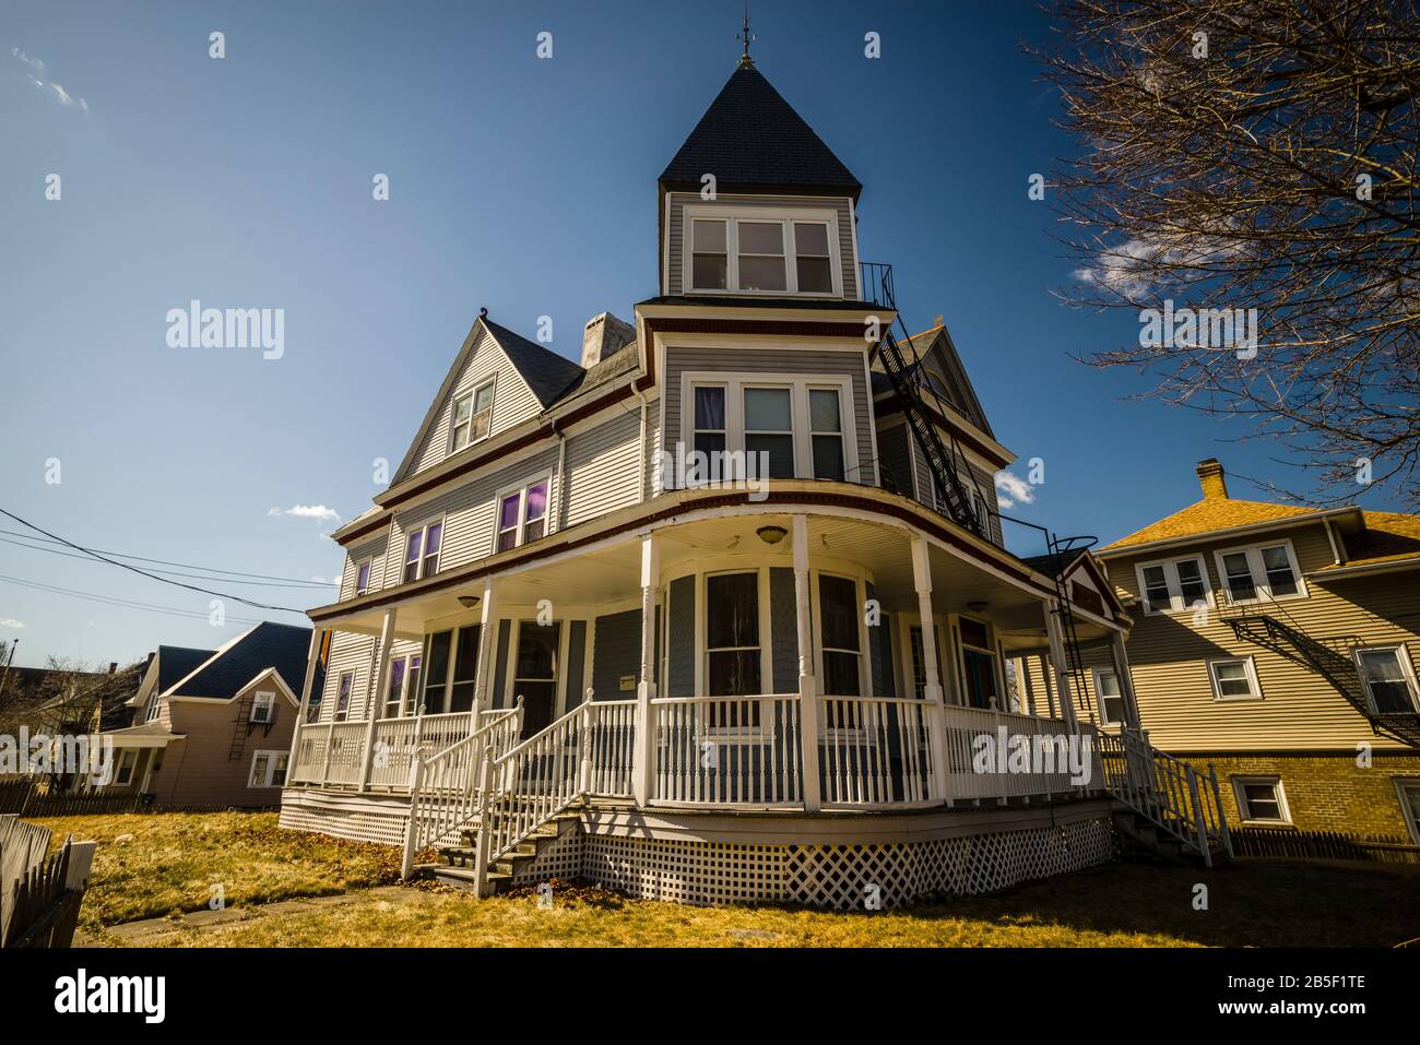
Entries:
<svg viewBox="0 0 1420 1045">
<path fill-rule="evenodd" d="M 129 699 L 132 724 L 108 730 L 105 795 L 156 805 L 268 808 L 285 782 L 311 630 L 263 622 L 216 650 L 159 646 Z M 317 670 L 318 666 L 317 666 Z"/>
</svg>

